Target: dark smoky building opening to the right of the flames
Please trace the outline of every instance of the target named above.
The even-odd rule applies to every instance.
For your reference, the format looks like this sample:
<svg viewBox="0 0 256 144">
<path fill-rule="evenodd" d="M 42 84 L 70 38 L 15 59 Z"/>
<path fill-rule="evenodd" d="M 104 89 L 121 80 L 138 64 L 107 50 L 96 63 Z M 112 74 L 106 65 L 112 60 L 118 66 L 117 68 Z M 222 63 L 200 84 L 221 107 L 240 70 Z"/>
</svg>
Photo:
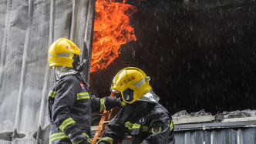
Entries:
<svg viewBox="0 0 256 144">
<path fill-rule="evenodd" d="M 117 59 L 90 74 L 90 91 L 110 95 L 114 75 L 134 66 L 151 77 L 171 115 L 255 109 L 254 7 L 175 15 L 138 8 L 131 18 L 136 42 L 121 45 Z"/>
</svg>

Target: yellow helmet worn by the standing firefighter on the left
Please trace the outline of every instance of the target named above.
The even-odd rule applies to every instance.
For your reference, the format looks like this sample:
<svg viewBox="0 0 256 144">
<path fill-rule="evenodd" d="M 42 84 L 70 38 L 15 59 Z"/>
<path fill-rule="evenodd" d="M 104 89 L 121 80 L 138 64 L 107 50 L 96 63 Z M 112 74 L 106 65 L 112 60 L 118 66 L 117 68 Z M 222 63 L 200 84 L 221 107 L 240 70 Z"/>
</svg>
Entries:
<svg viewBox="0 0 256 144">
<path fill-rule="evenodd" d="M 80 49 L 73 42 L 66 38 L 60 38 L 56 42 L 53 42 L 49 47 L 49 67 L 52 66 L 66 66 L 73 68 L 73 62 L 75 55 L 76 59 L 80 57 Z M 80 61 L 80 60 L 79 60 Z"/>
</svg>

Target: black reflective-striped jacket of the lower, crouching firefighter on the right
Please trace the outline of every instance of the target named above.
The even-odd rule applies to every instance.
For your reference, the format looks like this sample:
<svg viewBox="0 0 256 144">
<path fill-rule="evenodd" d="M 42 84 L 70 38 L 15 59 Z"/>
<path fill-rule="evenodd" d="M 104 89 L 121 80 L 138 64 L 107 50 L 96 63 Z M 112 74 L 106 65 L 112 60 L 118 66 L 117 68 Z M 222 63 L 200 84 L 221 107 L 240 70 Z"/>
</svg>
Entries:
<svg viewBox="0 0 256 144">
<path fill-rule="evenodd" d="M 160 104 L 133 102 L 125 105 L 106 126 L 99 144 L 116 144 L 128 134 L 133 144 L 174 144 L 172 118 Z"/>
</svg>

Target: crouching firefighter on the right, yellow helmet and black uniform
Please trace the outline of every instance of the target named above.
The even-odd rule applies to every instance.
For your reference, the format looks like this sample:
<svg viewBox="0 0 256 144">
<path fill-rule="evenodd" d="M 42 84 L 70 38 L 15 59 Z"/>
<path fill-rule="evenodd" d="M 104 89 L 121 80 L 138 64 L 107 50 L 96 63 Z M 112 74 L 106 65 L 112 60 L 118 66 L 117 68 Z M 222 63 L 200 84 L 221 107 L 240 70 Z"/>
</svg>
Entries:
<svg viewBox="0 0 256 144">
<path fill-rule="evenodd" d="M 150 77 L 140 69 L 127 67 L 116 74 L 110 90 L 120 92 L 123 108 L 109 122 L 98 144 L 121 143 L 126 134 L 133 144 L 174 144 L 173 120 L 158 103 L 149 85 Z"/>
</svg>

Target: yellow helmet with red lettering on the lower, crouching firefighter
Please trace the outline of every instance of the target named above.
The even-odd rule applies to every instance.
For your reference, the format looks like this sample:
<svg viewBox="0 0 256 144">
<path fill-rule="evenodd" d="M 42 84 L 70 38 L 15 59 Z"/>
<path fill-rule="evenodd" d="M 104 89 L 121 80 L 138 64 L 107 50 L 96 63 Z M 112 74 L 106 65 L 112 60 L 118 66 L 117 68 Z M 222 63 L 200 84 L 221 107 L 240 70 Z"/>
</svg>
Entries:
<svg viewBox="0 0 256 144">
<path fill-rule="evenodd" d="M 151 90 L 149 81 L 150 77 L 147 77 L 142 70 L 127 67 L 116 74 L 110 90 L 119 91 L 123 101 L 127 103 L 133 103 L 136 100 L 157 103 L 160 98 Z"/>
</svg>

